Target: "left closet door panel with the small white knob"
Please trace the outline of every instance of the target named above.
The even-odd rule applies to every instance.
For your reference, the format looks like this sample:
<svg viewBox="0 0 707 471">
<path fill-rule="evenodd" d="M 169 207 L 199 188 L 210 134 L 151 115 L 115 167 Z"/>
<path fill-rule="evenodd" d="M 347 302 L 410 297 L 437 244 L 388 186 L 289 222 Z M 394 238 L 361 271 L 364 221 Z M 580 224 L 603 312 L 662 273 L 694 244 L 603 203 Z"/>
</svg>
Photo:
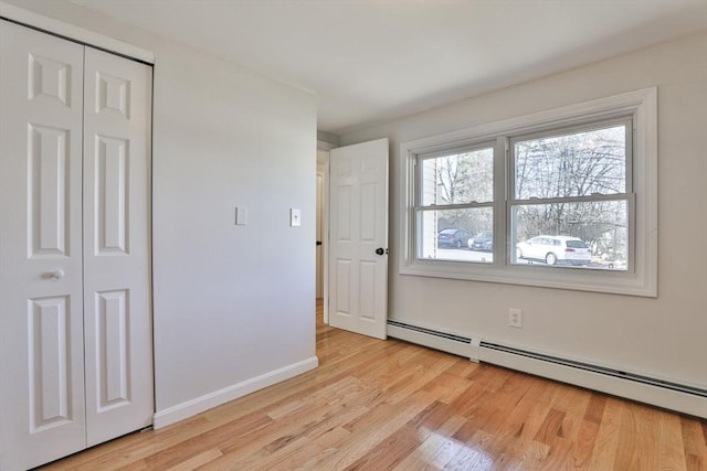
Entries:
<svg viewBox="0 0 707 471">
<path fill-rule="evenodd" d="M 0 469 L 85 441 L 83 46 L 0 20 Z"/>
</svg>

